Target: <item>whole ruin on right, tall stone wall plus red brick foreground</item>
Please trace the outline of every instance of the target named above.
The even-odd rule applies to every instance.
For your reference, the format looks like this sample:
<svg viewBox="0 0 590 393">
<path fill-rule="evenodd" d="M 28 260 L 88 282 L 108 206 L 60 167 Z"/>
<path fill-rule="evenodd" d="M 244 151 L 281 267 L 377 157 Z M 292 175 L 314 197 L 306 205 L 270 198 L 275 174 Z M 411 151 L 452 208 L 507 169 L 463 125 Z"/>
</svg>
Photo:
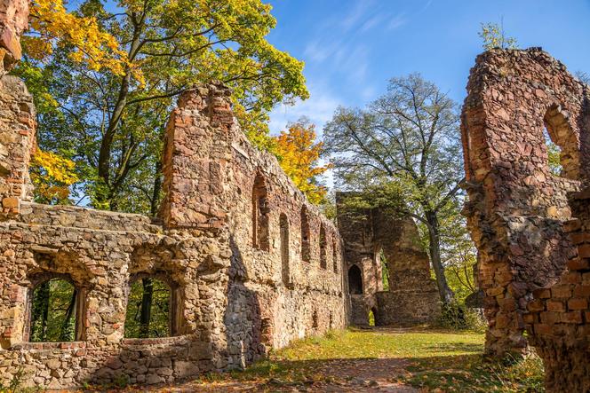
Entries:
<svg viewBox="0 0 590 393">
<path fill-rule="evenodd" d="M 588 391 L 590 87 L 538 48 L 476 59 L 463 107 L 465 214 L 478 248 L 486 352 L 530 343 L 550 391 Z M 551 173 L 544 131 L 561 148 Z M 583 191 L 580 191 L 583 190 Z"/>
</svg>

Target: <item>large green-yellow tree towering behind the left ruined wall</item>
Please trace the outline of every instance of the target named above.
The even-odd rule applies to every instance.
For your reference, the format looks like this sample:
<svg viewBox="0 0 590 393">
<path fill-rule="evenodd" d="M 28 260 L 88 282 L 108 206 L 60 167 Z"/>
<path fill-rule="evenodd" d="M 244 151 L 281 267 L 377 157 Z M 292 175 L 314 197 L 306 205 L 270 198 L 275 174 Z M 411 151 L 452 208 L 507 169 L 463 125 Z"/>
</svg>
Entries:
<svg viewBox="0 0 590 393">
<path fill-rule="evenodd" d="M 115 37 L 112 51 L 123 53 L 123 66 L 80 61 L 71 43 L 55 45 L 43 60 L 28 56 L 18 72 L 52 98 L 40 105 L 40 145 L 76 161 L 76 191 L 95 208 L 153 214 L 157 156 L 179 92 L 227 83 L 240 122 L 259 145 L 269 140 L 263 125 L 277 102 L 307 98 L 303 64 L 265 39 L 275 27 L 270 9 L 261 0 L 86 0 L 77 14 Z"/>
</svg>

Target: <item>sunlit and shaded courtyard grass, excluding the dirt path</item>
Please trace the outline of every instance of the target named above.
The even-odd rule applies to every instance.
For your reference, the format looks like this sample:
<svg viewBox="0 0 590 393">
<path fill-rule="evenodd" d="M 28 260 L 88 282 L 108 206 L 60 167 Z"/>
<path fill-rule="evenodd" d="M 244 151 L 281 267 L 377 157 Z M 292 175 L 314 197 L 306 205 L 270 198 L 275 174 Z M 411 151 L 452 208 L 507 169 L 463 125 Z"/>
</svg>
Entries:
<svg viewBox="0 0 590 393">
<path fill-rule="evenodd" d="M 444 330 L 348 329 L 294 342 L 231 377 L 312 383 L 325 380 L 315 373 L 315 366 L 328 359 L 403 358 L 408 366 L 398 381 L 425 391 L 543 391 L 540 359 L 531 356 L 513 365 L 487 363 L 482 360 L 483 341 L 483 334 Z"/>
</svg>

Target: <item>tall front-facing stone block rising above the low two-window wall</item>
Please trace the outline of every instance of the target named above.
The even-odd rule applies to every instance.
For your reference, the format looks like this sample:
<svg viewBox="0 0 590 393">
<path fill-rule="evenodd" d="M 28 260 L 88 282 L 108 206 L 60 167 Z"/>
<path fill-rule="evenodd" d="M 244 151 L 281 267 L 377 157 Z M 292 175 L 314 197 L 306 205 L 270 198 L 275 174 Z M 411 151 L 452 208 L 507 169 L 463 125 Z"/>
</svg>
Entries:
<svg viewBox="0 0 590 393">
<path fill-rule="evenodd" d="M 237 123 L 221 83 L 187 90 L 166 129 L 163 151 L 167 228 L 211 230 L 227 221 L 228 161 Z"/>
</svg>

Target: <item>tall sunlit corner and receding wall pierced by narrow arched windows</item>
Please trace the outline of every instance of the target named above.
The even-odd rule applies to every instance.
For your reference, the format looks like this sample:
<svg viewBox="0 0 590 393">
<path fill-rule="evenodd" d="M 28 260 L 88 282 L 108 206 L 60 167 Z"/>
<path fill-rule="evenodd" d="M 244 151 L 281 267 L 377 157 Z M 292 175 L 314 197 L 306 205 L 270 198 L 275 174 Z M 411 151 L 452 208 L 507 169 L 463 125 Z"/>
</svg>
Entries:
<svg viewBox="0 0 590 393">
<path fill-rule="evenodd" d="M 345 326 L 338 230 L 307 202 L 274 156 L 250 145 L 231 113 L 228 90 L 211 85 L 187 92 L 172 122 L 164 171 L 173 180 L 165 185 L 172 189 L 163 204 L 164 223 L 169 228 L 227 224 L 233 250 L 229 301 L 256 303 L 262 341 L 280 348 L 294 338 Z M 302 212 L 309 261 L 301 255 Z"/>
</svg>

